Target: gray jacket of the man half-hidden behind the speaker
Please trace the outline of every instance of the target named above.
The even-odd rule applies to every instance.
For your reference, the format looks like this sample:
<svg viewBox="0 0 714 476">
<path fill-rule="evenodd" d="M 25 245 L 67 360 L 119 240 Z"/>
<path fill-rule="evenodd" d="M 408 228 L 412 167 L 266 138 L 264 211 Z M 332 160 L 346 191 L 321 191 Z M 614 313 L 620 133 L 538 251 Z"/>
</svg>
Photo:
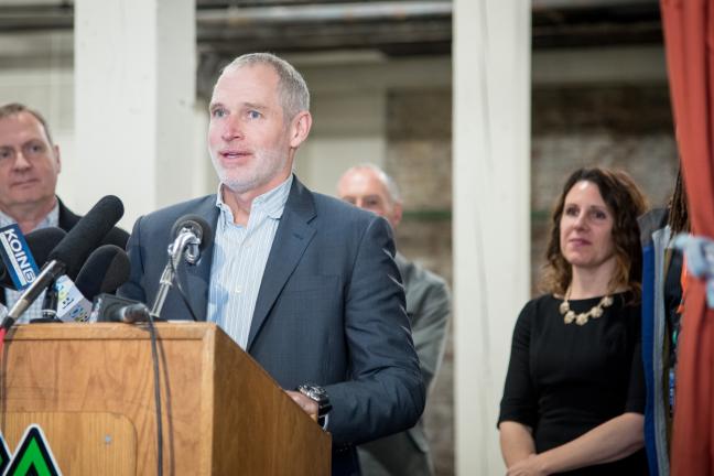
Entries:
<svg viewBox="0 0 714 476">
<path fill-rule="evenodd" d="M 446 281 L 397 253 L 397 266 L 407 292 L 407 314 L 426 389 L 439 371 L 451 315 Z M 434 473 L 424 422 L 359 447 L 366 476 L 428 476 Z"/>
</svg>

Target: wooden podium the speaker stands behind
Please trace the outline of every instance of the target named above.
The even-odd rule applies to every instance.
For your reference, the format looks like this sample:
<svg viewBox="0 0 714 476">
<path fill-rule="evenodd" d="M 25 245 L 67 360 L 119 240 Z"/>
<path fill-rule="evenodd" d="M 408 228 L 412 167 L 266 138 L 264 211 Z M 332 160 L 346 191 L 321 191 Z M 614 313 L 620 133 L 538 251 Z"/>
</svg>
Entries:
<svg viewBox="0 0 714 476">
<path fill-rule="evenodd" d="M 329 475 L 331 436 L 215 324 L 158 324 L 167 475 Z M 156 473 L 149 332 L 32 324 L 6 337 L 0 430 L 31 423 L 65 475 Z"/>
</svg>

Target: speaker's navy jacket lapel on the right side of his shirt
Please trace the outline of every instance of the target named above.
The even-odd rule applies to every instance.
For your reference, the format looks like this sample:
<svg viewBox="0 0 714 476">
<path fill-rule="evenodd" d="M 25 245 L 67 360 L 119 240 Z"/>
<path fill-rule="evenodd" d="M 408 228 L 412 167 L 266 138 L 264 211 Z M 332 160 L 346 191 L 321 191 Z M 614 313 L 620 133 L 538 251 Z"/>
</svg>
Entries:
<svg viewBox="0 0 714 476">
<path fill-rule="evenodd" d="M 250 351 L 256 336 L 260 332 L 275 300 L 285 286 L 288 279 L 300 262 L 307 245 L 315 235 L 310 221 L 315 216 L 312 193 L 293 177 L 293 185 L 285 203 L 275 238 L 268 256 L 263 272 L 256 311 L 253 312 L 246 349 Z"/>
</svg>

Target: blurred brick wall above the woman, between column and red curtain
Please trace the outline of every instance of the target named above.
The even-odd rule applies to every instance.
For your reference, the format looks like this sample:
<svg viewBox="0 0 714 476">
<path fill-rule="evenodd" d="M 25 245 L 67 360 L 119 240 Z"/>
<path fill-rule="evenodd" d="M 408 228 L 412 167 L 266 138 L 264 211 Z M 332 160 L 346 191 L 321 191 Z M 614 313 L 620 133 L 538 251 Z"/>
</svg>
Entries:
<svg viewBox="0 0 714 476">
<path fill-rule="evenodd" d="M 577 167 L 627 171 L 650 206 L 664 206 L 678 159 L 664 84 L 542 87 L 532 91 L 531 274 L 543 263 L 549 215 Z"/>
</svg>

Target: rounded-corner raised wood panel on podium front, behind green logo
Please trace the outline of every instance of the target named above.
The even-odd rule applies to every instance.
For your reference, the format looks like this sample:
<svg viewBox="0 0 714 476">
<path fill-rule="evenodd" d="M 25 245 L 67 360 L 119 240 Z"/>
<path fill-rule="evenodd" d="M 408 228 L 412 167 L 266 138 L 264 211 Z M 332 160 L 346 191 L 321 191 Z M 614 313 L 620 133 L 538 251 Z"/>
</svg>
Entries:
<svg viewBox="0 0 714 476">
<path fill-rule="evenodd" d="M 112 413 L 17 413 L 4 415 L 2 434 L 14 454 L 30 424 L 42 428 L 60 469 L 66 475 L 131 475 L 137 470 L 137 434 Z"/>
</svg>

